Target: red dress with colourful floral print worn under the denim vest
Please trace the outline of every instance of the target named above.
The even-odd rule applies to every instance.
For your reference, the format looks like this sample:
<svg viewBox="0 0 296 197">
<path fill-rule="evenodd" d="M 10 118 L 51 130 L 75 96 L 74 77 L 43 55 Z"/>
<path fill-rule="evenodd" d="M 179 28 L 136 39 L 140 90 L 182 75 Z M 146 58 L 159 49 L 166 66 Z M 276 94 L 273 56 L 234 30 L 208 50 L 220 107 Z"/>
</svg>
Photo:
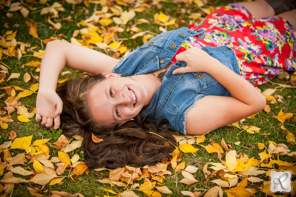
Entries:
<svg viewBox="0 0 296 197">
<path fill-rule="evenodd" d="M 253 85 L 295 70 L 296 33 L 284 18 L 256 19 L 239 4 L 228 4 L 189 28 L 203 28 L 205 33 L 187 39 L 177 54 L 190 47 L 228 45 L 235 51 L 241 76 Z"/>
</svg>

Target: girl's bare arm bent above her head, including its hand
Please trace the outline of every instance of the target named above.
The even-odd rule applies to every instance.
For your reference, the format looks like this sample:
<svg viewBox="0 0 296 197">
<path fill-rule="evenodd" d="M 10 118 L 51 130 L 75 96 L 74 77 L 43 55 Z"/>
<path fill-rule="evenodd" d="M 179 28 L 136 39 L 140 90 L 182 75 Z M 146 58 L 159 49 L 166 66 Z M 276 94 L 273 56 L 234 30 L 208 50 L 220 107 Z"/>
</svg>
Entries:
<svg viewBox="0 0 296 197">
<path fill-rule="evenodd" d="M 58 129 L 60 125 L 59 114 L 62 113 L 62 101 L 56 94 L 59 73 L 65 68 L 88 73 L 110 73 L 118 59 L 109 57 L 86 47 L 80 47 L 65 41 L 51 41 L 41 61 L 39 90 L 36 99 L 36 121 L 47 127 Z"/>
</svg>

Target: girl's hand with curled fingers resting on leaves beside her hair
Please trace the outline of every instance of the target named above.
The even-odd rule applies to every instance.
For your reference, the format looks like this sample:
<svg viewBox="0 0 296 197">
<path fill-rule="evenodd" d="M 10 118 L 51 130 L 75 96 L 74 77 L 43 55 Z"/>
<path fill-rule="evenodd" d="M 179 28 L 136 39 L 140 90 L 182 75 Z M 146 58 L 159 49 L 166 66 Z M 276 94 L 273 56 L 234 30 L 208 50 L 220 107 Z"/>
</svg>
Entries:
<svg viewBox="0 0 296 197">
<path fill-rule="evenodd" d="M 46 127 L 51 127 L 54 122 L 54 129 L 60 125 L 59 115 L 62 113 L 63 102 L 55 91 L 38 91 L 36 99 L 36 121 Z"/>
</svg>

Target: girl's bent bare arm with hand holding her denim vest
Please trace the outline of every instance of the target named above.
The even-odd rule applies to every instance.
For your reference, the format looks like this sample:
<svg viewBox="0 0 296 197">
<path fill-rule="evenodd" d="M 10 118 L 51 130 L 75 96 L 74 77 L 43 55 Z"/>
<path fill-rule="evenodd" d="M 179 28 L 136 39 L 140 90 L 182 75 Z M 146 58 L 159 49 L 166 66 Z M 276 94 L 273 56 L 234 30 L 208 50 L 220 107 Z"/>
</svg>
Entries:
<svg viewBox="0 0 296 197">
<path fill-rule="evenodd" d="M 186 114 L 187 134 L 204 134 L 257 113 L 265 107 L 265 98 L 252 84 L 201 49 L 187 49 L 177 55 L 176 59 L 187 63 L 186 67 L 177 68 L 176 73 L 206 72 L 233 96 L 208 95 L 196 101 Z"/>
</svg>

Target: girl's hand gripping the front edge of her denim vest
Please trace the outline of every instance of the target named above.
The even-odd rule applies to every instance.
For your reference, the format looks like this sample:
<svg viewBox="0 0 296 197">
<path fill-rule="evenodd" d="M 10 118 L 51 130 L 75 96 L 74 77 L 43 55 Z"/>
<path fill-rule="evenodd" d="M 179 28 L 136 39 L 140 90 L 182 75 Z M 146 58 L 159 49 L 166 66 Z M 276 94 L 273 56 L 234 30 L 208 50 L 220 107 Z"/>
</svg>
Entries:
<svg viewBox="0 0 296 197">
<path fill-rule="evenodd" d="M 176 55 L 176 60 L 184 61 L 187 65 L 185 67 L 176 68 L 173 71 L 173 75 L 181 73 L 207 72 L 210 69 L 210 66 L 218 61 L 198 47 L 192 47 L 179 53 Z"/>
</svg>

